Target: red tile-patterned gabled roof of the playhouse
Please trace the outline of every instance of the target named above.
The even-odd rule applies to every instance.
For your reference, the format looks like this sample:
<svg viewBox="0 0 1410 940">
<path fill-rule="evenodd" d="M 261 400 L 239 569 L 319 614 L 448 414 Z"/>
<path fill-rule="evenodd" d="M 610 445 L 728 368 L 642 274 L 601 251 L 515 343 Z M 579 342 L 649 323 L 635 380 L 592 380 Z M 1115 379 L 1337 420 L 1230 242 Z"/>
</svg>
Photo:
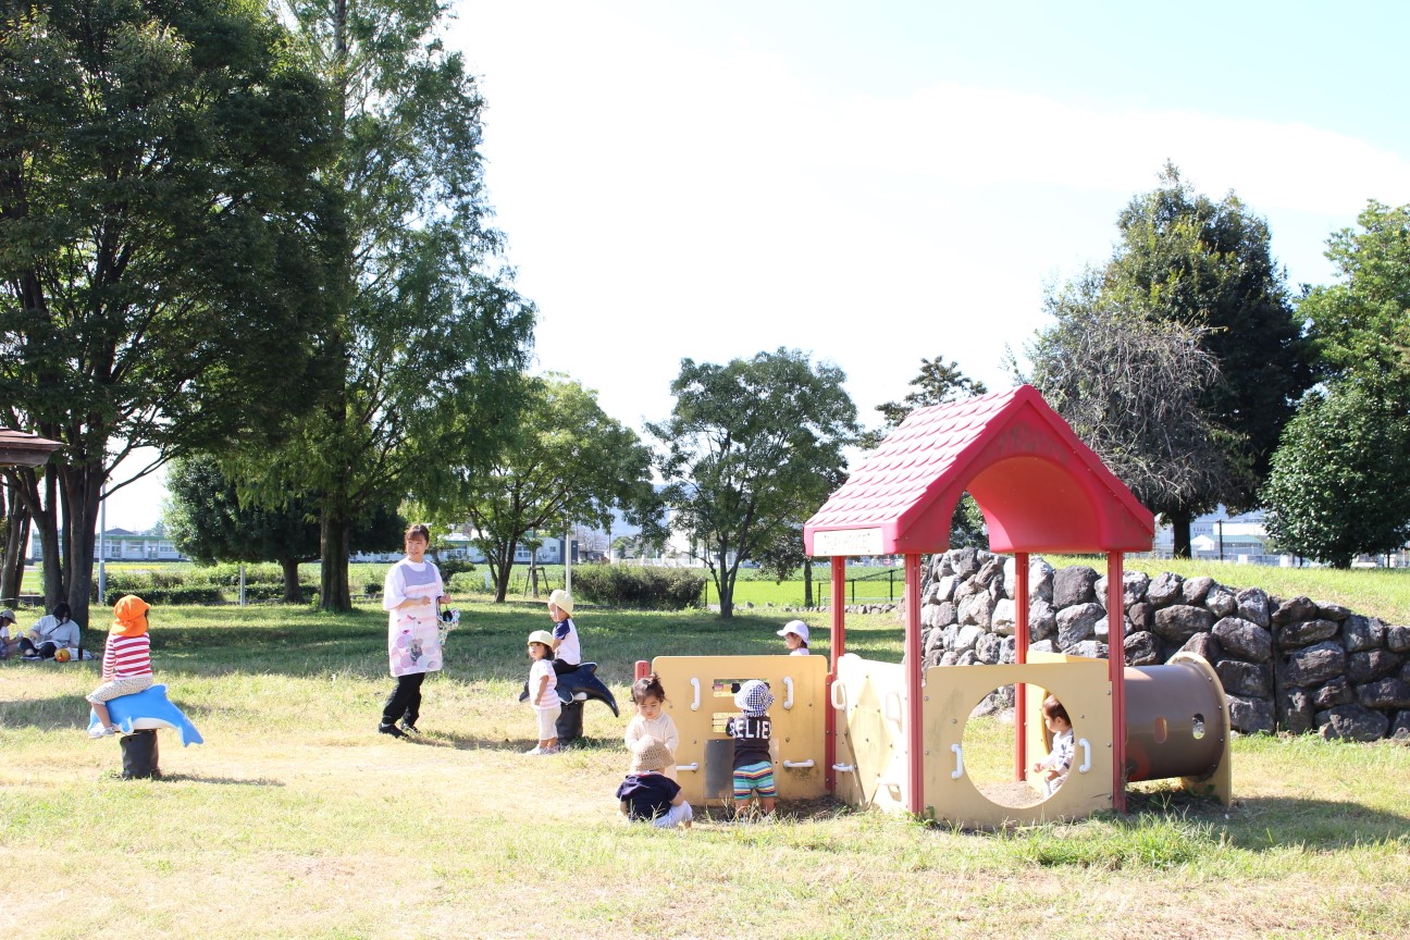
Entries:
<svg viewBox="0 0 1410 940">
<path fill-rule="evenodd" d="M 994 551 L 1148 551 L 1155 533 L 1131 490 L 1024 385 L 912 412 L 808 520 L 804 541 L 814 555 L 943 551 L 966 490 Z"/>
</svg>

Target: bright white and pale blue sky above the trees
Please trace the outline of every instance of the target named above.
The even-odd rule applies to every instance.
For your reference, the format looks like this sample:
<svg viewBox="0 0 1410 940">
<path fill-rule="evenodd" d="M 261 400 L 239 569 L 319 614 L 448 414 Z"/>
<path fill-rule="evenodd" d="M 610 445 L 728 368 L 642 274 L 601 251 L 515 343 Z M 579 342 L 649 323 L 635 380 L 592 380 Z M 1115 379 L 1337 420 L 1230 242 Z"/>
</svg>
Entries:
<svg viewBox="0 0 1410 940">
<path fill-rule="evenodd" d="M 1045 290 L 1101 265 L 1169 161 L 1234 192 L 1296 292 L 1410 203 L 1410 6 L 453 0 L 533 369 L 642 430 L 681 359 L 780 347 L 862 421 L 921 359 L 1012 386 Z M 114 479 L 118 479 L 121 469 Z M 159 478 L 109 500 L 145 528 Z"/>
</svg>

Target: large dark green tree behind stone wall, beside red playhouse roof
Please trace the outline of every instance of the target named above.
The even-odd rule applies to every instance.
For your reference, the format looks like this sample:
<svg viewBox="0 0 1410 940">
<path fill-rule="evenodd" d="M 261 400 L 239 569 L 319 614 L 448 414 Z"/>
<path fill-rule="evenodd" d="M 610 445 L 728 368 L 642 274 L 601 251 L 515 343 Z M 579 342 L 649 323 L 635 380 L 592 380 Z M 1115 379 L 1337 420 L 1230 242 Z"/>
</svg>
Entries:
<svg viewBox="0 0 1410 940">
<path fill-rule="evenodd" d="M 1160 402 L 1159 389 L 1141 385 L 1136 390 L 1146 393 L 1124 403 L 1083 403 L 1091 393 L 1080 379 L 1083 372 L 1111 376 L 1112 366 L 1090 358 L 1090 348 L 1083 352 L 1090 344 L 1084 344 L 1081 327 L 1070 328 L 1069 323 L 1115 319 L 1120 328 L 1139 331 L 1151 344 L 1176 351 L 1189 342 L 1191 352 L 1210 357 L 1211 368 L 1197 365 L 1191 376 L 1198 414 L 1184 421 L 1183 434 L 1191 444 L 1206 438 L 1203 455 L 1217 459 L 1206 461 L 1203 469 L 1167 466 L 1170 455 L 1182 451 L 1159 437 L 1145 441 L 1155 450 L 1141 452 L 1135 448 L 1142 441 L 1129 441 L 1121 455 L 1125 464 L 1145 468 L 1145 476 L 1122 479 L 1149 509 L 1170 520 L 1176 554 L 1187 557 L 1190 521 L 1197 513 L 1218 503 L 1241 509 L 1256 502 L 1277 435 L 1314 379 L 1313 352 L 1293 313 L 1283 271 L 1272 258 L 1268 224 L 1232 193 L 1214 202 L 1166 165 L 1160 185 L 1135 196 L 1117 228 L 1120 241 L 1104 268 L 1049 290 L 1045 306 L 1058 323 L 1039 333 L 1029 352 L 1035 385 L 1069 420 L 1079 409 L 1114 414 L 1121 407 Z M 1110 347 L 1111 338 L 1105 331 L 1103 345 Z M 1155 352 L 1151 344 L 1146 354 Z M 1145 381 L 1155 378 L 1146 373 Z M 1110 381 L 1101 386 L 1112 388 Z M 1111 461 L 1111 443 L 1087 443 Z M 1162 476 L 1180 483 L 1167 486 Z"/>
</svg>

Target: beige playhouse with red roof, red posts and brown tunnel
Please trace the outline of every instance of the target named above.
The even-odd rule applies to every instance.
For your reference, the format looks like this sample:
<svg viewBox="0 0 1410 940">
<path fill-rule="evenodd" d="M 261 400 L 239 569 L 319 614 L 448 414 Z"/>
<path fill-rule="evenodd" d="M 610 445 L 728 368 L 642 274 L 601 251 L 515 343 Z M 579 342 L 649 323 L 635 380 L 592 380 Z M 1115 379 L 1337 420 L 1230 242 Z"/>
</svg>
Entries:
<svg viewBox="0 0 1410 940">
<path fill-rule="evenodd" d="M 1017 561 L 1015 662 L 922 669 L 921 555 L 949 548 L 964 492 L 984 513 L 990 548 Z M 1122 612 L 1122 554 L 1148 551 L 1153 534 L 1151 513 L 1031 386 L 912 412 L 804 526 L 808 554 L 832 562 L 833 598 L 843 596 L 849 557 L 904 557 L 902 662 L 846 653 L 839 603 L 830 669 L 823 657 L 657 657 L 685 798 L 729 798 L 733 743 L 723 722 L 739 685 L 764 679 L 776 695 L 774 777 L 784 800 L 833 793 L 852 806 L 971 827 L 1124 812 L 1127 782 L 1142 779 L 1177 778 L 1228 803 L 1228 709 L 1200 657 L 1125 667 L 1120 616 L 1108 619 L 1110 660 L 1028 650 L 1032 552 L 1107 554 L 1104 606 Z M 1024 806 L 991 800 L 964 764 L 971 710 L 1010 685 L 1015 782 L 1034 782 L 1029 755 L 1050 746 L 1039 710 L 1046 695 L 1063 702 L 1076 740 L 1063 785 Z"/>
</svg>

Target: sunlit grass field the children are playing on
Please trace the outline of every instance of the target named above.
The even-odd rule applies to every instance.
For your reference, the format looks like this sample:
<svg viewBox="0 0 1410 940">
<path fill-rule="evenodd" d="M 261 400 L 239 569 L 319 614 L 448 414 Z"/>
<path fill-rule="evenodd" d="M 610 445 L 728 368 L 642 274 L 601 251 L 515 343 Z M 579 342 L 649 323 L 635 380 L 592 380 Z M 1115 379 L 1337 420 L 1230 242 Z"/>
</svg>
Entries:
<svg viewBox="0 0 1410 940">
<path fill-rule="evenodd" d="M 623 702 L 634 660 L 778 651 L 784 619 L 577 617 Z M 413 744 L 372 733 L 379 612 L 155 610 L 158 681 L 206 737 L 164 733 L 161 781 L 114 779 L 117 744 L 83 733 L 96 664 L 0 664 L 0 936 L 1410 936 L 1406 747 L 1238 738 L 1228 809 L 1152 784 L 1128 816 L 998 834 L 826 800 L 656 831 L 618 822 L 625 717 L 589 703 L 581 747 L 520 754 L 541 606 L 462 623 Z M 900 641 L 849 619 L 864 655 Z"/>
</svg>

